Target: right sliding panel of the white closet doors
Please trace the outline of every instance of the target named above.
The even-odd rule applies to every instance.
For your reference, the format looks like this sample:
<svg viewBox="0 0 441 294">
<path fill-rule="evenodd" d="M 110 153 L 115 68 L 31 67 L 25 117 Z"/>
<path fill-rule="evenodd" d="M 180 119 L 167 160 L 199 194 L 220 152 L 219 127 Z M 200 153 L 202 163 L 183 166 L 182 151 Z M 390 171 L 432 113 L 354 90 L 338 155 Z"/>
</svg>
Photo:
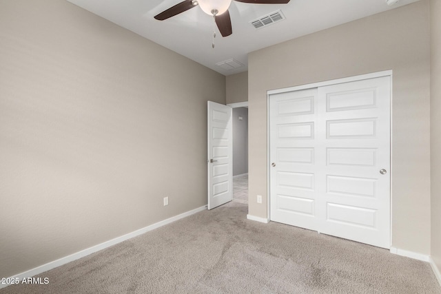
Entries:
<svg viewBox="0 0 441 294">
<path fill-rule="evenodd" d="M 318 88 L 321 233 L 390 247 L 390 84 L 387 76 Z"/>
</svg>

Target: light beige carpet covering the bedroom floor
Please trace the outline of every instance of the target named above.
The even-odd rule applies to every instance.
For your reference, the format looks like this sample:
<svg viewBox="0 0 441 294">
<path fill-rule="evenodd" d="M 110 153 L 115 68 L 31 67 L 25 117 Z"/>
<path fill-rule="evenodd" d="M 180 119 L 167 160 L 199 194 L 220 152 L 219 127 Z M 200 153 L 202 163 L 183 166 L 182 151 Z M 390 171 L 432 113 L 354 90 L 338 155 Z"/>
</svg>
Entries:
<svg viewBox="0 0 441 294">
<path fill-rule="evenodd" d="M 0 293 L 441 293 L 426 262 L 246 215 L 230 202 Z"/>
</svg>

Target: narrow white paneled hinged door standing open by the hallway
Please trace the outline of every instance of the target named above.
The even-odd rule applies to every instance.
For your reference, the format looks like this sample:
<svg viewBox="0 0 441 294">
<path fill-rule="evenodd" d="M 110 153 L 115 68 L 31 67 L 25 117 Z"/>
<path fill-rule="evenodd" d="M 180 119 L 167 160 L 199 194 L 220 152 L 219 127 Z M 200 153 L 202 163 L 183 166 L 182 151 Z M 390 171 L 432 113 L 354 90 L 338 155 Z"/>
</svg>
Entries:
<svg viewBox="0 0 441 294">
<path fill-rule="evenodd" d="M 232 107 L 208 101 L 208 209 L 233 199 Z"/>
</svg>

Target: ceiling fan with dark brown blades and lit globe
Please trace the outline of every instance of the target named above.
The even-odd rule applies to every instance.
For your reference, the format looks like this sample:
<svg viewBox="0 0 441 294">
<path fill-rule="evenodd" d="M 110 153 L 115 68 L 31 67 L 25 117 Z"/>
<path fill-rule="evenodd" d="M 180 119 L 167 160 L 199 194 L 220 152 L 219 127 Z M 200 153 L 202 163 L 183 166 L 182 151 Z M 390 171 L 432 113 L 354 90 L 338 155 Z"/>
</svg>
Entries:
<svg viewBox="0 0 441 294">
<path fill-rule="evenodd" d="M 234 0 L 243 3 L 252 4 L 286 4 L 289 0 Z M 171 8 L 164 10 L 154 18 L 158 21 L 163 21 L 174 17 L 176 14 L 180 14 L 195 6 L 200 6 L 203 12 L 211 15 L 218 26 L 220 34 L 222 36 L 229 36 L 233 33 L 232 21 L 229 17 L 228 8 L 232 3 L 232 0 L 185 0 L 181 3 L 172 6 Z"/>
</svg>

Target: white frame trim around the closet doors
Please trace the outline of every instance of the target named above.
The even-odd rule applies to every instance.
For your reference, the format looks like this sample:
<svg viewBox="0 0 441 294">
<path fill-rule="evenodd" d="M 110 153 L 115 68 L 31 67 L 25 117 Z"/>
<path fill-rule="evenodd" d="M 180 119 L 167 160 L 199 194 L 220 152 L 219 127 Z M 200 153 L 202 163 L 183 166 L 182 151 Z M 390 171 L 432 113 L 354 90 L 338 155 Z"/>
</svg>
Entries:
<svg viewBox="0 0 441 294">
<path fill-rule="evenodd" d="M 354 82 L 354 81 L 361 81 L 361 80 L 367 80 L 369 78 L 380 78 L 382 76 L 390 76 L 391 79 L 391 93 L 390 93 L 390 103 L 391 103 L 391 107 L 390 107 L 390 139 L 391 139 L 391 144 L 390 144 L 390 246 L 391 246 L 391 250 L 393 248 L 392 244 L 393 244 L 393 239 L 392 239 L 392 231 L 393 231 L 393 227 L 392 227 L 392 220 L 393 220 L 393 162 L 392 162 L 392 158 L 393 158 L 393 135 L 392 135 L 392 129 L 393 129 L 393 119 L 392 119 L 392 115 L 393 115 L 393 71 L 392 70 L 384 70 L 381 72 L 372 72 L 370 74 L 360 74 L 358 76 L 349 76 L 347 78 L 336 78 L 333 80 L 329 80 L 329 81 L 322 81 L 322 82 L 317 82 L 317 83 L 310 83 L 310 84 L 305 84 L 305 85 L 298 85 L 298 86 L 293 86 L 293 87 L 285 87 L 285 88 L 280 88 L 280 89 L 276 89 L 276 90 L 268 90 L 267 91 L 267 220 L 268 222 L 271 221 L 271 207 L 270 207 L 270 198 L 271 198 L 271 177 L 269 176 L 270 173 L 270 165 L 271 165 L 271 161 L 269 158 L 270 155 L 270 150 L 269 150 L 269 145 L 270 145 L 270 121 L 271 121 L 271 117 L 270 117 L 270 98 L 271 95 L 273 94 L 280 94 L 280 93 L 285 93 L 285 92 L 293 92 L 293 91 L 298 91 L 298 90 L 307 90 L 307 89 L 311 89 L 311 88 L 315 88 L 315 87 L 323 87 L 323 86 L 328 86 L 328 85 L 336 85 L 336 84 L 340 84 L 340 83 L 349 83 L 349 82 Z"/>
</svg>

